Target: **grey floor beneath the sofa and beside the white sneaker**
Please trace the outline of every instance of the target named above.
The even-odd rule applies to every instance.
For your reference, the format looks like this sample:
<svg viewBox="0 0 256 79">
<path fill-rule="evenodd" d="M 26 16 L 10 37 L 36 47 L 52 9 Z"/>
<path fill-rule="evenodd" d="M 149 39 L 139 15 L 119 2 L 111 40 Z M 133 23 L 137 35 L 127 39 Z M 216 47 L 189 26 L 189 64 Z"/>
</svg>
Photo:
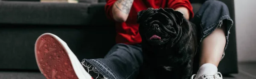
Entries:
<svg viewBox="0 0 256 79">
<path fill-rule="evenodd" d="M 46 79 L 39 72 L 0 71 L 0 79 Z M 224 76 L 223 79 L 256 79 L 256 62 L 239 63 L 239 73 Z"/>
</svg>

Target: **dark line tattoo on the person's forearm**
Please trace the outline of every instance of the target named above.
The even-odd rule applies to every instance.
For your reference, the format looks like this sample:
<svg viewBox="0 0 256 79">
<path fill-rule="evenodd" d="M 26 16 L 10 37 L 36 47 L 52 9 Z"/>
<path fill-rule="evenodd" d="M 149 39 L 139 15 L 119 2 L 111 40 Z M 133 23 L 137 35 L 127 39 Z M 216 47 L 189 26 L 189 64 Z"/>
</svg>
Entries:
<svg viewBox="0 0 256 79">
<path fill-rule="evenodd" d="M 117 0 L 117 2 L 115 3 L 116 8 L 118 8 L 120 11 L 124 12 L 125 14 L 129 14 L 130 10 L 131 10 L 131 6 L 134 0 Z M 120 7 L 118 7 L 117 5 L 121 4 Z"/>
</svg>

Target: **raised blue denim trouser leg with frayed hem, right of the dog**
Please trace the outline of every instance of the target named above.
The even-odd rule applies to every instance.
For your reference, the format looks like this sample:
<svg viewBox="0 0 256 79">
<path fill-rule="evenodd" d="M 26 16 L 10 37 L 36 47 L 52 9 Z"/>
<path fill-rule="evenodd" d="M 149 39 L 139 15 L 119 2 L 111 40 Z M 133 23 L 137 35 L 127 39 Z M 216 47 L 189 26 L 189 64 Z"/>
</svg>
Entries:
<svg viewBox="0 0 256 79">
<path fill-rule="evenodd" d="M 226 28 L 226 45 L 224 51 L 227 48 L 228 37 L 230 34 L 230 28 L 233 25 L 233 20 L 230 18 L 229 10 L 221 1 L 218 0 L 207 0 L 203 3 L 201 8 L 197 13 L 195 13 L 195 17 L 191 20 L 195 25 L 200 26 L 199 30 L 199 45 L 201 45 L 202 40 L 212 33 L 216 28 L 220 27 L 222 24 L 225 24 Z M 224 53 L 222 58 L 224 57 Z"/>
</svg>

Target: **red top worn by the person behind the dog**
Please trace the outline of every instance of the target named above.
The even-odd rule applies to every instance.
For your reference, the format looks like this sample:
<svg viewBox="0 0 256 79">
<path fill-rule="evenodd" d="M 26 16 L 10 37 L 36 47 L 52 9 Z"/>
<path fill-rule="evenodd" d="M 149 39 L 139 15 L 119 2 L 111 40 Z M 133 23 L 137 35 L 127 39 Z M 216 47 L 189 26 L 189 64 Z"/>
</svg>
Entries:
<svg viewBox="0 0 256 79">
<path fill-rule="evenodd" d="M 110 20 L 113 19 L 112 7 L 116 0 L 106 0 L 105 14 Z M 192 5 L 189 0 L 134 0 L 131 11 L 125 22 L 115 22 L 116 43 L 138 44 L 141 43 L 139 24 L 137 23 L 137 12 L 147 8 L 179 8 L 186 7 L 189 10 L 190 18 L 193 17 Z"/>
</svg>

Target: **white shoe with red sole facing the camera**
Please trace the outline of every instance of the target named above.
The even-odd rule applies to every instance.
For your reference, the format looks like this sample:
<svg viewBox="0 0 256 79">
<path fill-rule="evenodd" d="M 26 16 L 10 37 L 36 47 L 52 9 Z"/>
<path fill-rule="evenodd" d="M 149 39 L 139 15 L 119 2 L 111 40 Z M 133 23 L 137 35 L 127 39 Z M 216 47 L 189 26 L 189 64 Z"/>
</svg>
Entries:
<svg viewBox="0 0 256 79">
<path fill-rule="evenodd" d="M 67 43 L 54 34 L 42 34 L 35 42 L 35 58 L 47 79 L 93 79 Z"/>
</svg>

